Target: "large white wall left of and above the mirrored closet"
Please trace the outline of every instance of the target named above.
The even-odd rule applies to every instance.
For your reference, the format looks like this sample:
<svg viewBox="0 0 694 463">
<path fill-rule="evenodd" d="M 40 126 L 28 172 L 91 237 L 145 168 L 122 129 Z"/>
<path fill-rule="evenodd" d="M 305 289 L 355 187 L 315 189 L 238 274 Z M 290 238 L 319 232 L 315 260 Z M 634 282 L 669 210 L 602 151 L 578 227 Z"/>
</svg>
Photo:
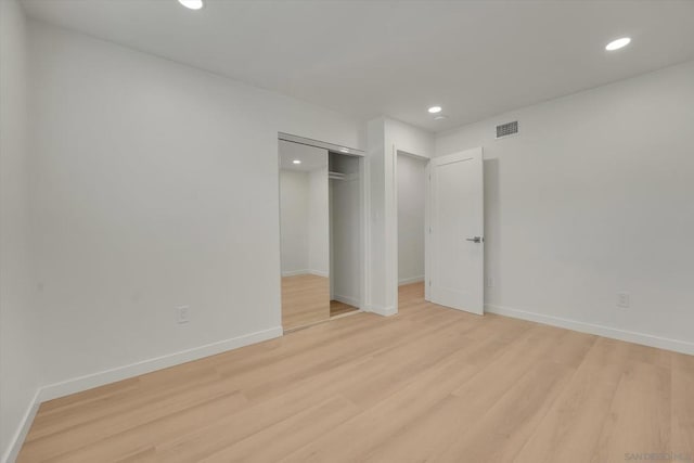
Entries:
<svg viewBox="0 0 694 463">
<path fill-rule="evenodd" d="M 31 44 L 48 396 L 279 335 L 278 131 L 360 147 L 359 124 L 43 24 Z"/>
</svg>

